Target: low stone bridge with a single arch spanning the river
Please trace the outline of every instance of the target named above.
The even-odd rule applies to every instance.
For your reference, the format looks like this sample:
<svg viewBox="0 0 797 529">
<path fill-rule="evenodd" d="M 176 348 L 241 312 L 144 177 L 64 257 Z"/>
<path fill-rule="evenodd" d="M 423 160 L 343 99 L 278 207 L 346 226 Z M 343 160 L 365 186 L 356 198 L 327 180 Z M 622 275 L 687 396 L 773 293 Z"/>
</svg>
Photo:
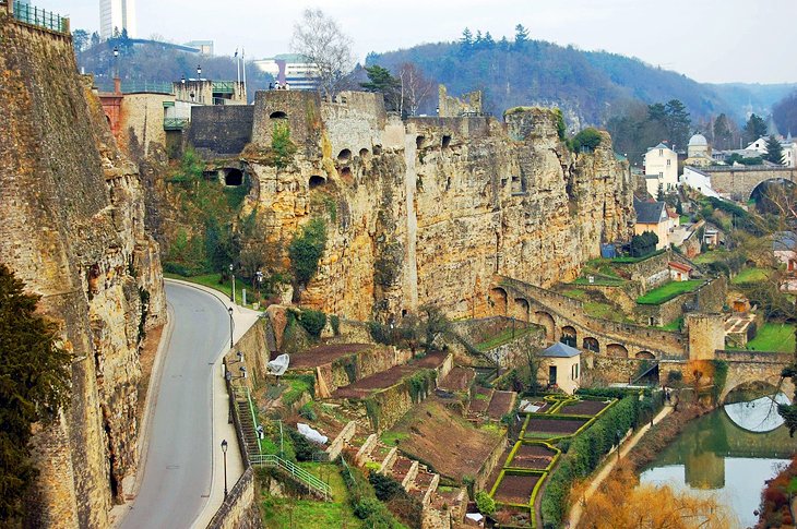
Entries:
<svg viewBox="0 0 797 529">
<path fill-rule="evenodd" d="M 790 399 L 794 397 L 794 384 L 790 378 L 781 383 L 781 371 L 792 362 L 788 352 L 762 351 L 716 351 L 715 358 L 728 363 L 728 375 L 719 394 L 719 401 L 737 387 L 751 382 L 764 382 L 781 390 Z"/>
</svg>

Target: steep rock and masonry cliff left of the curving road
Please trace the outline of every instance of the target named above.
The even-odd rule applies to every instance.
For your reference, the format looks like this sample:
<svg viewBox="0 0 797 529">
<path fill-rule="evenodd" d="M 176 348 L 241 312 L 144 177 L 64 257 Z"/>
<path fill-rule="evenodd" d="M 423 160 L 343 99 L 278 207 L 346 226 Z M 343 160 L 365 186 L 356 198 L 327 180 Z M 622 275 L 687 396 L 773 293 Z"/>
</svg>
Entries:
<svg viewBox="0 0 797 529">
<path fill-rule="evenodd" d="M 0 9 L 0 260 L 74 354 L 71 406 L 35 436 L 28 522 L 107 527 L 136 466 L 141 337 L 166 316 L 157 245 L 71 39 Z"/>
</svg>

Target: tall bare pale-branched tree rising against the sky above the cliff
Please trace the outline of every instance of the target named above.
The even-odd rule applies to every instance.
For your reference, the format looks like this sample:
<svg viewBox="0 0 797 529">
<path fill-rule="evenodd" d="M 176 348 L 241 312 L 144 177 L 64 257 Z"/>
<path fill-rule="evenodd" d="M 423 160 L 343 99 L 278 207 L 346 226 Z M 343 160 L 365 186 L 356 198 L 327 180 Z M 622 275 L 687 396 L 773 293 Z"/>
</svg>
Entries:
<svg viewBox="0 0 797 529">
<path fill-rule="evenodd" d="M 333 96 L 352 69 L 352 39 L 320 9 L 307 9 L 294 25 L 290 49 L 319 69 L 319 92 Z"/>
</svg>

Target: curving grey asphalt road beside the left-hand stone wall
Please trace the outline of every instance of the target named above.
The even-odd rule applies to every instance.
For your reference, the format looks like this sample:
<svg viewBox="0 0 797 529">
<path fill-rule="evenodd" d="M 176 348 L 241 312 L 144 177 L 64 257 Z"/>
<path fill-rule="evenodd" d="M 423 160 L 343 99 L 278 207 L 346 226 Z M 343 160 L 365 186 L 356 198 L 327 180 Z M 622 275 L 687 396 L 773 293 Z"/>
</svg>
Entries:
<svg viewBox="0 0 797 529">
<path fill-rule="evenodd" d="M 174 327 L 156 392 L 143 481 L 123 529 L 188 528 L 211 488 L 212 363 L 229 340 L 213 296 L 166 284 Z"/>
</svg>

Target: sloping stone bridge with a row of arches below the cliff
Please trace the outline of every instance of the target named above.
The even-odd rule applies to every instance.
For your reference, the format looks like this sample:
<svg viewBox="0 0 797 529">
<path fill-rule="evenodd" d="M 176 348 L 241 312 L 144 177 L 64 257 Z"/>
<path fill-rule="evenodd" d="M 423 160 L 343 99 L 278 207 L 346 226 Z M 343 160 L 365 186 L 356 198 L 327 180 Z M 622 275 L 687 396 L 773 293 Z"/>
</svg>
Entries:
<svg viewBox="0 0 797 529">
<path fill-rule="evenodd" d="M 490 301 L 498 315 L 535 323 L 548 341 L 571 345 L 624 359 L 686 360 L 687 337 L 680 333 L 588 316 L 583 303 L 509 277 L 497 277 Z"/>
</svg>

